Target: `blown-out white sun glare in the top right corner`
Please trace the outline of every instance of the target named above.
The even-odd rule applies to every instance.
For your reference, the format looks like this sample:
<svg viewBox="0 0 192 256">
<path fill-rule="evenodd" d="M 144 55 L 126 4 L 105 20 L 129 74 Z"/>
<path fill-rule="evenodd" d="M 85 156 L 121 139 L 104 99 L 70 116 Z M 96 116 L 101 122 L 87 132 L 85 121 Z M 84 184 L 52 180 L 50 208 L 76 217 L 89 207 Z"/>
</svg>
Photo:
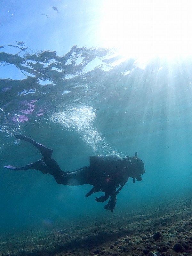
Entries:
<svg viewBox="0 0 192 256">
<path fill-rule="evenodd" d="M 191 10 L 190 0 L 106 0 L 100 24 L 103 46 L 147 59 L 191 55 Z"/>
</svg>

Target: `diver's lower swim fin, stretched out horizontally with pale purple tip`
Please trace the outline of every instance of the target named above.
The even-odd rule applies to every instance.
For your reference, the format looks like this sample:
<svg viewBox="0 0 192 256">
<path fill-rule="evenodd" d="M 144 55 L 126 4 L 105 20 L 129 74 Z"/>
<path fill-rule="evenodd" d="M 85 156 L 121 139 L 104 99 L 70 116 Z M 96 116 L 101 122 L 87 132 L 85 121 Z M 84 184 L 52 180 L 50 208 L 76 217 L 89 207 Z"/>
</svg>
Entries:
<svg viewBox="0 0 192 256">
<path fill-rule="evenodd" d="M 50 173 L 49 167 L 43 162 L 43 160 L 38 160 L 35 163 L 28 164 L 26 166 L 18 167 L 18 168 L 11 166 L 11 165 L 6 165 L 4 167 L 9 170 L 13 170 L 13 171 L 24 171 L 24 170 L 29 170 L 29 169 L 35 169 L 35 170 L 39 170 L 43 173 Z"/>
</svg>

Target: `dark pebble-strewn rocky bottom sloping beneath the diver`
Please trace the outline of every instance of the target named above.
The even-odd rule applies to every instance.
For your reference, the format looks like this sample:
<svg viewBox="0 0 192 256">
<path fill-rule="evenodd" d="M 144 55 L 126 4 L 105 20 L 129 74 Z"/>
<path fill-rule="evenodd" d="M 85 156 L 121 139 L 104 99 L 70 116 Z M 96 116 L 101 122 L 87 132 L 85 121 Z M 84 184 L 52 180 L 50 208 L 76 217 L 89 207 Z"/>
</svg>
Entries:
<svg viewBox="0 0 192 256">
<path fill-rule="evenodd" d="M 192 255 L 191 205 L 192 197 L 185 195 L 62 228 L 1 236 L 0 256 Z"/>
</svg>

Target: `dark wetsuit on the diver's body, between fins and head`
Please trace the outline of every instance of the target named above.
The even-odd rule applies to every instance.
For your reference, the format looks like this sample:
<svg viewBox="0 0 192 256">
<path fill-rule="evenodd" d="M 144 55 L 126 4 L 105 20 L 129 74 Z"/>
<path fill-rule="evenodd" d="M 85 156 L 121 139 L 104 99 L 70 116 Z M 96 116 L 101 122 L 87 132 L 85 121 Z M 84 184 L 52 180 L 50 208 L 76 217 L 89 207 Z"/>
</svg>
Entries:
<svg viewBox="0 0 192 256">
<path fill-rule="evenodd" d="M 105 156 L 105 155 L 104 155 Z M 94 158 L 104 158 L 104 156 L 92 156 Z M 112 160 L 97 161 L 90 166 L 84 166 L 78 170 L 64 172 L 60 169 L 59 165 L 53 158 L 39 160 L 40 165 L 44 167 L 42 171 L 41 166 L 32 166 L 30 169 L 37 169 L 43 173 L 51 174 L 57 183 L 63 185 L 77 186 L 89 184 L 93 188 L 85 195 L 90 196 L 95 192 L 105 192 L 104 196 L 96 197 L 97 202 L 105 202 L 109 196 L 110 200 L 105 209 L 113 212 L 116 205 L 116 195 L 125 185 L 129 177 L 134 176 L 132 174 L 132 163 L 128 159 L 121 159 L 118 155 L 108 155 L 108 158 L 114 158 Z M 91 157 L 90 157 L 91 158 Z M 107 158 L 107 157 L 105 157 Z M 119 160 L 116 160 L 119 159 Z M 91 161 L 90 161 L 91 162 Z M 137 177 L 137 180 L 142 180 L 141 177 Z M 119 189 L 117 189 L 120 186 Z M 117 190 L 116 190 L 117 189 Z"/>
</svg>

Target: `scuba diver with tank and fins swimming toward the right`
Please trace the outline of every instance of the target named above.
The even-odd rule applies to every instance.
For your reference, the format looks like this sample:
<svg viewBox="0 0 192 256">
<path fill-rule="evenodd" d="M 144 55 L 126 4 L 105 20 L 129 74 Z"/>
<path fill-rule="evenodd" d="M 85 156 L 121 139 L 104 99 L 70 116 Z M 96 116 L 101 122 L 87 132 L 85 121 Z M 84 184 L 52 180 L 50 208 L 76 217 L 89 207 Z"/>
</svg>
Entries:
<svg viewBox="0 0 192 256">
<path fill-rule="evenodd" d="M 111 212 L 115 209 L 116 195 L 123 188 L 128 178 L 132 177 L 133 183 L 135 183 L 135 179 L 141 181 L 140 175 L 145 172 L 143 161 L 137 157 L 137 152 L 135 152 L 135 156 L 126 156 L 125 158 L 121 158 L 121 156 L 116 154 L 90 156 L 90 166 L 64 172 L 60 169 L 57 162 L 51 158 L 52 149 L 46 148 L 42 144 L 23 135 L 15 135 L 15 137 L 33 144 L 43 157 L 41 160 L 24 167 L 17 168 L 7 165 L 4 166 L 5 168 L 15 171 L 39 170 L 42 173 L 51 174 L 57 183 L 63 185 L 92 185 L 93 188 L 85 196 L 88 197 L 99 191 L 104 192 L 104 196 L 96 197 L 95 200 L 103 203 L 110 196 L 108 204 L 104 208 Z"/>
</svg>

